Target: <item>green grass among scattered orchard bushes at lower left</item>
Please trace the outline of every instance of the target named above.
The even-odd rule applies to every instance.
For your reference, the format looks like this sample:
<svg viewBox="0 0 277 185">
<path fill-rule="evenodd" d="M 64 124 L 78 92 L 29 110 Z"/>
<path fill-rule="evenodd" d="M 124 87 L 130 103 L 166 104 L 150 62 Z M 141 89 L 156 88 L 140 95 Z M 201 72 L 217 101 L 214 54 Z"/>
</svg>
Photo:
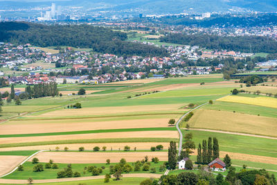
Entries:
<svg viewBox="0 0 277 185">
<path fill-rule="evenodd" d="M 151 160 L 151 159 L 150 159 Z M 119 161 L 118 161 L 119 162 Z M 54 161 L 55 163 L 55 161 Z M 45 163 L 39 163 L 43 164 L 45 166 Z M 150 173 L 150 171 L 143 171 L 142 169 L 139 171 L 134 171 L 134 163 L 128 163 L 132 166 L 133 170 L 130 173 Z M 32 162 L 26 162 L 24 166 L 23 171 L 15 171 L 14 173 L 7 175 L 6 177 L 3 177 L 4 179 L 28 179 L 28 177 L 32 177 L 33 179 L 56 179 L 57 178 L 57 172 L 63 170 L 64 168 L 67 167 L 67 164 L 57 164 L 58 169 L 48 169 L 44 168 L 43 172 L 33 172 L 33 166 L 35 164 L 32 164 Z M 114 166 L 116 164 L 71 164 L 72 165 L 72 170 L 74 172 L 79 172 L 81 173 L 81 177 L 88 177 L 91 176 L 91 173 L 85 171 L 84 173 L 84 167 L 87 166 L 96 166 L 97 168 L 101 168 L 102 166 L 105 167 L 105 169 L 100 173 L 100 175 L 105 175 L 109 173 L 109 166 Z M 155 168 L 156 173 L 158 174 L 163 174 L 163 172 L 159 172 L 159 166 L 163 165 L 163 161 L 159 161 L 158 164 L 154 164 L 154 162 L 150 162 L 150 168 Z M 124 174 L 123 174 L 124 177 Z"/>
</svg>

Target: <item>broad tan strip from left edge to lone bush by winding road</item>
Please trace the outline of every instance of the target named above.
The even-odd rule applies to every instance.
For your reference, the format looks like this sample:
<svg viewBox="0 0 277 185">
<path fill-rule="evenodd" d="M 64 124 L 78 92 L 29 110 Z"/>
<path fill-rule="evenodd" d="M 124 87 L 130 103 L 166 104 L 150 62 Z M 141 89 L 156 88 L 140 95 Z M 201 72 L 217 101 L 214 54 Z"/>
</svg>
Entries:
<svg viewBox="0 0 277 185">
<path fill-rule="evenodd" d="M 140 127 L 168 127 L 168 120 L 178 117 L 178 115 L 153 115 L 114 118 L 8 121 L 0 125 L 0 134 L 33 134 L 37 132 L 48 133 Z M 30 130 L 30 127 L 32 127 L 32 130 Z"/>
</svg>

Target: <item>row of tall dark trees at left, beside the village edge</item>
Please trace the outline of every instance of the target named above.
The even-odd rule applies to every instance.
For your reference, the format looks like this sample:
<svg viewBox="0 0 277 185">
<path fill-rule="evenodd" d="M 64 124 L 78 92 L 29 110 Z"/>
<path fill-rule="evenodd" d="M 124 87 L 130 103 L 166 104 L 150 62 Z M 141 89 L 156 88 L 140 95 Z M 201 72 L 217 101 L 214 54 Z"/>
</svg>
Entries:
<svg viewBox="0 0 277 185">
<path fill-rule="evenodd" d="M 41 83 L 31 87 L 28 85 L 25 88 L 25 93 L 20 94 L 20 99 L 40 98 L 46 96 L 57 96 L 59 91 L 57 90 L 57 84 L 55 82 Z"/>
</svg>

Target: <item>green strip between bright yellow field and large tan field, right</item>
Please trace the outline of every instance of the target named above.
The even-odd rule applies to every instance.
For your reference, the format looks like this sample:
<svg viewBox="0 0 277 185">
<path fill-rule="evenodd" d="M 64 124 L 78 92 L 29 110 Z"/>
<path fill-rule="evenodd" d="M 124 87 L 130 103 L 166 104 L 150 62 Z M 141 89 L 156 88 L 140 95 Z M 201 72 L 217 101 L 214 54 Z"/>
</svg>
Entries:
<svg viewBox="0 0 277 185">
<path fill-rule="evenodd" d="M 213 105 L 204 105 L 202 109 L 214 109 L 214 110 L 222 110 L 222 111 L 229 111 L 229 112 L 239 112 L 243 114 L 250 114 L 250 115 L 258 115 L 260 116 L 267 116 L 276 118 L 277 117 L 277 109 L 271 107 L 260 107 L 257 105 L 247 105 L 242 103 L 231 103 L 231 102 L 224 102 L 224 101 L 215 101 Z"/>
</svg>

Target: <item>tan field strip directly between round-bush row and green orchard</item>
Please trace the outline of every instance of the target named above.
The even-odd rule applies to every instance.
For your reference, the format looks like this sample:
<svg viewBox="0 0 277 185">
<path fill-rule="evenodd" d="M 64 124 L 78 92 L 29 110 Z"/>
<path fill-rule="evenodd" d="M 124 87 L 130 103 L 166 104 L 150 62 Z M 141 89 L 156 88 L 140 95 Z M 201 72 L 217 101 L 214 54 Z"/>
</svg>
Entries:
<svg viewBox="0 0 277 185">
<path fill-rule="evenodd" d="M 55 163 L 64 164 L 68 164 L 69 161 L 72 164 L 101 164 L 107 159 L 110 159 L 111 163 L 117 163 L 122 158 L 127 162 L 134 162 L 144 159 L 146 155 L 149 159 L 158 157 L 160 161 L 168 160 L 168 152 L 41 152 L 35 157 L 40 162 L 48 162 L 52 159 Z"/>
</svg>

